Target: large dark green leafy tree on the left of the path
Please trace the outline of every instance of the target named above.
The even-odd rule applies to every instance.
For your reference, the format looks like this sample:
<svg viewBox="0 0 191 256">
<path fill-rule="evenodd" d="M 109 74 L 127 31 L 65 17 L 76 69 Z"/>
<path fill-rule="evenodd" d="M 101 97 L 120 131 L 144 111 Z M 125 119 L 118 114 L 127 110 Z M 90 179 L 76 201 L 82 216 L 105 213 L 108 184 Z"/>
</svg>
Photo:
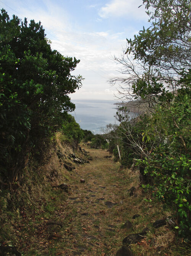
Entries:
<svg viewBox="0 0 191 256">
<path fill-rule="evenodd" d="M 41 23 L 0 14 L 0 170 L 13 179 L 31 149 L 73 111 L 79 60 L 52 50 Z"/>
</svg>

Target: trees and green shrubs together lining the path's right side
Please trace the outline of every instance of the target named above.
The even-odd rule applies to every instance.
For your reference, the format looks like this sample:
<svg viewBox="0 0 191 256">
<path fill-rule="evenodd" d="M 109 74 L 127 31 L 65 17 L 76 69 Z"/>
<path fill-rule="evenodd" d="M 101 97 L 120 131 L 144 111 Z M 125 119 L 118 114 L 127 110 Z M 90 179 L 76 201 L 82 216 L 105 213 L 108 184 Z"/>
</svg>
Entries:
<svg viewBox="0 0 191 256">
<path fill-rule="evenodd" d="M 179 234 L 189 236 L 191 3 L 187 0 L 143 0 L 143 3 L 151 26 L 139 31 L 134 40 L 127 39 L 127 49 L 115 60 L 123 65 L 121 73 L 128 76 L 114 78 L 111 83 L 121 81 L 122 97 L 145 104 L 152 113 L 147 111 L 146 122 L 141 123 L 143 119 L 139 117 L 140 121 L 137 118 L 138 124 L 133 126 L 132 121 L 124 119 L 128 113 L 123 111 L 121 140 L 141 155 L 138 165 L 145 167 L 144 173 L 152 180 L 144 187 L 154 191 L 154 199 L 172 206 Z"/>
</svg>

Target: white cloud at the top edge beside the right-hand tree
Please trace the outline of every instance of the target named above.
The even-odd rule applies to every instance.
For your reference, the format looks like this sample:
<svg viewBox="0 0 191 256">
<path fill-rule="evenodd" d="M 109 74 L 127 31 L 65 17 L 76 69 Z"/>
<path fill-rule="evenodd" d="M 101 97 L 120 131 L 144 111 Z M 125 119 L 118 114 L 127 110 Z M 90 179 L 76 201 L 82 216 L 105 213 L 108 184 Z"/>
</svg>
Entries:
<svg viewBox="0 0 191 256">
<path fill-rule="evenodd" d="M 144 7 L 139 7 L 142 0 L 112 0 L 104 7 L 100 8 L 99 16 L 101 18 L 108 17 L 127 17 L 136 18 L 138 20 L 147 19 Z"/>
</svg>

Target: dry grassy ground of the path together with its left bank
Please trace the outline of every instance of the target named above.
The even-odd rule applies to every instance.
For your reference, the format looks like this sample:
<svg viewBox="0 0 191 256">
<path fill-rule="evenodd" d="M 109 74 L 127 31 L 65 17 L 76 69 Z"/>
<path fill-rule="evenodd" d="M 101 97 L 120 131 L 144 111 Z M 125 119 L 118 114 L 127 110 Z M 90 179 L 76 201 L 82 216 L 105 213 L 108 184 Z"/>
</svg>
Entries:
<svg viewBox="0 0 191 256">
<path fill-rule="evenodd" d="M 190 254 L 170 226 L 153 227 L 171 213 L 142 192 L 138 170 L 120 170 L 106 150 L 82 144 L 85 151 L 73 152 L 60 138 L 58 133 L 41 166 L 28 167 L 25 182 L 2 190 L 1 249 L 14 246 L 21 255 L 115 255 L 128 234 L 148 228 L 129 246 L 134 255 Z M 92 160 L 75 164 L 72 154 Z M 66 170 L 66 162 L 75 169 Z M 64 183 L 67 189 L 59 186 Z"/>
</svg>

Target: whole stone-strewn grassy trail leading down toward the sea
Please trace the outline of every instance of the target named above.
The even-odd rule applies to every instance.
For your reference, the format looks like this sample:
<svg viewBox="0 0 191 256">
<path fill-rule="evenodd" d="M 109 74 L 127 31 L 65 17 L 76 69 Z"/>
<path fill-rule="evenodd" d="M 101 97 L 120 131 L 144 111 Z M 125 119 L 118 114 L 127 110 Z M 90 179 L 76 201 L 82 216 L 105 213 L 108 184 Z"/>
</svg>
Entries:
<svg viewBox="0 0 191 256">
<path fill-rule="evenodd" d="M 120 169 L 106 150 L 82 145 L 77 159 L 58 148 L 43 167 L 41 187 L 31 192 L 34 206 L 23 206 L 11 221 L 16 247 L 0 246 L 16 253 L 2 255 L 181 255 L 165 254 L 175 236 L 162 205 L 144 200 L 138 170 Z"/>
</svg>

